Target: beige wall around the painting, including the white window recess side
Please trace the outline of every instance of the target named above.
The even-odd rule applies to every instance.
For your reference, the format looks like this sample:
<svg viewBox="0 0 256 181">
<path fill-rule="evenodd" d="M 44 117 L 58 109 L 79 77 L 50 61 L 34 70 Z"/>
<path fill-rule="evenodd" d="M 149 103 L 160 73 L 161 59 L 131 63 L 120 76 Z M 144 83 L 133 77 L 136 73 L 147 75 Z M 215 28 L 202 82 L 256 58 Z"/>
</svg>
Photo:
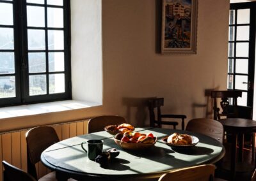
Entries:
<svg viewBox="0 0 256 181">
<path fill-rule="evenodd" d="M 205 91 L 227 87 L 229 1 L 198 1 L 195 55 L 156 52 L 159 2 L 72 0 L 73 98 L 102 106 L 1 119 L 0 131 L 104 114 L 145 126 L 154 96 L 164 98 L 163 113 L 186 114 L 186 121 L 211 113 Z"/>
</svg>

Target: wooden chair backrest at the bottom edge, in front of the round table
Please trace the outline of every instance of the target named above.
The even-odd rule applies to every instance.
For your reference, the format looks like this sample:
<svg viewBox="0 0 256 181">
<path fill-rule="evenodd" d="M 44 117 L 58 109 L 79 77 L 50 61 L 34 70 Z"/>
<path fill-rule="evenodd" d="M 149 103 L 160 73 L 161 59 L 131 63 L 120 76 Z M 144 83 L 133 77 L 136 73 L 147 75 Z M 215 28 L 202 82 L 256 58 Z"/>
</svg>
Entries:
<svg viewBox="0 0 256 181">
<path fill-rule="evenodd" d="M 182 181 L 209 181 L 213 180 L 215 166 L 213 164 L 203 164 L 189 168 L 181 168 L 164 173 L 159 181 L 182 180 Z"/>
</svg>

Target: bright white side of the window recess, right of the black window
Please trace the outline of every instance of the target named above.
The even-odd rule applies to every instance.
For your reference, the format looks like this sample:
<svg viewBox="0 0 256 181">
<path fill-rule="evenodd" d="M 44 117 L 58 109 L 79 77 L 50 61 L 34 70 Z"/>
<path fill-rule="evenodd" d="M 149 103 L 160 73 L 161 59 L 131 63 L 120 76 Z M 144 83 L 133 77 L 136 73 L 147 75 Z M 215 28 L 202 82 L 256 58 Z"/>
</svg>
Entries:
<svg viewBox="0 0 256 181">
<path fill-rule="evenodd" d="M 100 0 L 71 1 L 72 97 L 102 105 Z"/>
</svg>

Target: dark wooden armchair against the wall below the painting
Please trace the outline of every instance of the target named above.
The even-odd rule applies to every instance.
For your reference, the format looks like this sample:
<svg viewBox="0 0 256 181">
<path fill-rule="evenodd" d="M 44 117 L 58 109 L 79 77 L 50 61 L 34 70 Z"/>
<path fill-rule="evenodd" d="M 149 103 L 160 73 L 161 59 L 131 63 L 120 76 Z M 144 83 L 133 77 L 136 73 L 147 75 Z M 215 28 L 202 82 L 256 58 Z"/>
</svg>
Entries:
<svg viewBox="0 0 256 181">
<path fill-rule="evenodd" d="M 186 119 L 186 115 L 175 115 L 175 114 L 162 114 L 161 106 L 164 105 L 164 98 L 154 98 L 148 100 L 148 110 L 149 110 L 149 120 L 150 127 L 161 127 L 164 125 L 172 125 L 173 129 L 176 129 L 176 126 L 179 124 L 176 121 L 166 121 L 162 120 L 163 118 L 168 119 L 181 119 L 181 127 L 184 130 L 184 119 Z M 157 112 L 157 117 L 155 116 L 155 109 Z"/>
</svg>

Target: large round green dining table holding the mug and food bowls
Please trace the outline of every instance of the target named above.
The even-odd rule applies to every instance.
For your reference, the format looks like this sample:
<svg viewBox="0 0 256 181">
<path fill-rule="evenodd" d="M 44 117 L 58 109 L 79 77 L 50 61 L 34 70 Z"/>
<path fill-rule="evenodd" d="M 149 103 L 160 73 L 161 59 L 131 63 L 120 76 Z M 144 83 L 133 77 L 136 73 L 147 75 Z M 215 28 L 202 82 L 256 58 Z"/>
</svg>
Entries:
<svg viewBox="0 0 256 181">
<path fill-rule="evenodd" d="M 204 134 L 157 127 L 136 128 L 135 131 L 154 134 L 157 136 L 156 144 L 146 150 L 125 150 L 115 143 L 113 135 L 100 131 L 68 138 L 51 145 L 42 152 L 41 161 L 47 168 L 56 171 L 57 180 L 131 180 L 159 178 L 171 170 L 216 163 L 225 155 L 223 145 Z M 162 138 L 173 133 L 196 136 L 199 142 L 194 147 L 170 147 Z M 81 143 L 92 139 L 103 140 L 103 150 L 118 149 L 119 156 L 106 164 L 88 159 L 86 152 L 81 148 Z"/>
</svg>

